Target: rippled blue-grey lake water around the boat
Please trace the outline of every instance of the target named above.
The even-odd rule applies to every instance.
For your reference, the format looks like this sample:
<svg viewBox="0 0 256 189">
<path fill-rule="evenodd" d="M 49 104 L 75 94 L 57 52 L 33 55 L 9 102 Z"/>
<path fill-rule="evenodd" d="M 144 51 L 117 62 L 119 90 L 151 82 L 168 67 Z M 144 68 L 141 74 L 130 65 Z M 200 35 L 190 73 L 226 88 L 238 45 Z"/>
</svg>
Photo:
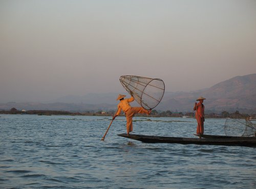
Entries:
<svg viewBox="0 0 256 189">
<path fill-rule="evenodd" d="M 0 115 L 0 188 L 256 188 L 256 148 L 146 144 L 107 116 Z M 150 119 L 150 120 L 148 120 Z M 206 119 L 205 134 L 224 133 Z M 196 137 L 196 120 L 134 117 L 134 134 Z"/>
</svg>

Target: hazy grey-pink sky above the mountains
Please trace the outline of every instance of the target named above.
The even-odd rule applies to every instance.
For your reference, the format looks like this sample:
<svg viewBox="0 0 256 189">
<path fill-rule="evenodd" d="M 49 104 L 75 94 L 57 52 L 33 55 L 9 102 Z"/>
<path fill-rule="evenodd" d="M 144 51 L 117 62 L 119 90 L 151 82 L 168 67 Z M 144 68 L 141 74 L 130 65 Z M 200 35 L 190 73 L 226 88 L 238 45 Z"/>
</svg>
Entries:
<svg viewBox="0 0 256 189">
<path fill-rule="evenodd" d="M 190 91 L 254 73 L 255 0 L 0 0 L 2 103 L 124 93 L 121 75 Z"/>
</svg>

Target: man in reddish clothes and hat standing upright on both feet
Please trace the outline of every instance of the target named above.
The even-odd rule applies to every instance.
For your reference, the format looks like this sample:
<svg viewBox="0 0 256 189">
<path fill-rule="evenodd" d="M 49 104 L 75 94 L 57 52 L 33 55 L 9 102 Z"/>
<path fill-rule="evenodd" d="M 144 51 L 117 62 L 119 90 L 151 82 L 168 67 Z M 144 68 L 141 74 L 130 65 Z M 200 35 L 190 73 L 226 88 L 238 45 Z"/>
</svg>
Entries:
<svg viewBox="0 0 256 189">
<path fill-rule="evenodd" d="M 197 119 L 197 135 L 201 138 L 201 135 L 204 134 L 204 102 L 205 98 L 199 97 L 197 101 L 199 103 L 195 103 L 194 111 L 196 111 L 196 119 Z"/>
</svg>

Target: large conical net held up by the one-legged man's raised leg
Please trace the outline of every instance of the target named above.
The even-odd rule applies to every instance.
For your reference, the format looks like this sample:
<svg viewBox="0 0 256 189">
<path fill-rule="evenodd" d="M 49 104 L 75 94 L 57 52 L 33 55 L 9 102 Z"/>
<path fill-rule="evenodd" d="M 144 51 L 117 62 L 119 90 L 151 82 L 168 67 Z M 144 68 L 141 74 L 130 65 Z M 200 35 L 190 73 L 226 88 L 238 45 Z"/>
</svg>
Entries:
<svg viewBox="0 0 256 189">
<path fill-rule="evenodd" d="M 120 82 L 125 90 L 147 110 L 155 108 L 163 98 L 165 87 L 161 79 L 121 76 Z"/>
</svg>

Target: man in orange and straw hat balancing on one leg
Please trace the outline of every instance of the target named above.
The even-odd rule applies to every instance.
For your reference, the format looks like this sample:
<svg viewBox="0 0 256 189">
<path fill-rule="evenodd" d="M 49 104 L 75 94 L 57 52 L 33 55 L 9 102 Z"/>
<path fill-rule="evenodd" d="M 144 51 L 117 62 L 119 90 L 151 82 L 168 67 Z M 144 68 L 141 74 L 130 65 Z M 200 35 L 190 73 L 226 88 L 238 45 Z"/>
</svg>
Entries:
<svg viewBox="0 0 256 189">
<path fill-rule="evenodd" d="M 126 97 L 125 95 L 119 95 L 117 97 L 117 101 L 120 100 L 119 104 L 117 105 L 117 112 L 113 116 L 113 120 L 115 120 L 116 116 L 120 115 L 121 110 L 125 113 L 126 116 L 126 130 L 127 130 L 127 135 L 129 135 L 130 132 L 133 131 L 133 116 L 136 113 L 146 113 L 150 114 L 151 110 L 146 110 L 142 107 L 131 107 L 130 102 L 134 101 L 133 95 L 131 94 L 130 99 L 124 99 Z"/>
</svg>

